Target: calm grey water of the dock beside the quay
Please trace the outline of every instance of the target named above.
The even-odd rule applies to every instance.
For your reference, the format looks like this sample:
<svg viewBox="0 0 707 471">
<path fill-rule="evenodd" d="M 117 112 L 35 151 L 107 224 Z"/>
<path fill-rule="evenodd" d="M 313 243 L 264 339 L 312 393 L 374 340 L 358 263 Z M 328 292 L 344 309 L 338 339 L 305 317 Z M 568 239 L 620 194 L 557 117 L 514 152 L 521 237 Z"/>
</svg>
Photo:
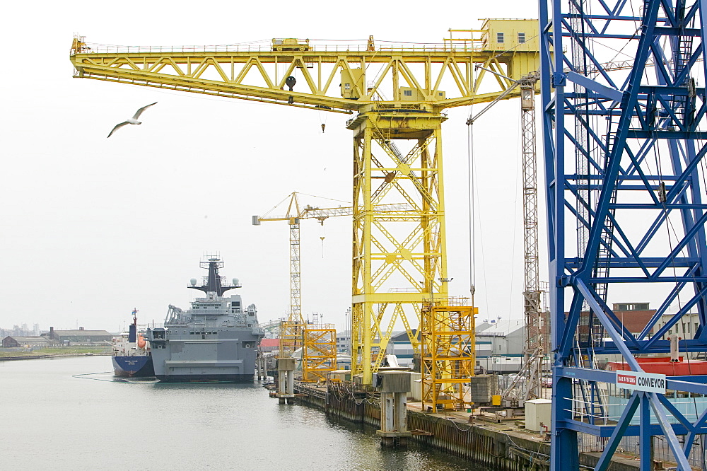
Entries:
<svg viewBox="0 0 707 471">
<path fill-rule="evenodd" d="M 110 357 L 1 361 L 0 463 L 25 470 L 479 470 L 260 385 L 116 381 Z M 100 373 L 100 374 L 92 374 Z"/>
</svg>

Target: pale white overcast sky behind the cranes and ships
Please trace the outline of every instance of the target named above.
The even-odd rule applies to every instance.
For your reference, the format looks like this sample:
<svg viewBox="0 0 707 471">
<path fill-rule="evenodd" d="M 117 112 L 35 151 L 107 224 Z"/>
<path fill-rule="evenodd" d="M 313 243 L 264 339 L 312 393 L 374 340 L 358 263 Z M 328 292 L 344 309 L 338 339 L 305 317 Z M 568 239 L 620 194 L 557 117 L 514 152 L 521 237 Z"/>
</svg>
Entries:
<svg viewBox="0 0 707 471">
<path fill-rule="evenodd" d="M 206 274 L 199 262 L 212 253 L 226 263 L 221 274 L 240 279 L 240 294 L 257 305 L 261 322 L 280 318 L 289 307 L 287 225 L 256 227 L 251 216 L 293 191 L 351 200 L 348 115 L 73 79 L 74 32 L 110 45 L 368 35 L 438 43 L 449 28 L 479 28 L 478 18 L 537 18 L 535 2 L 520 1 L 136 5 L 4 7 L 0 327 L 116 331 L 133 308 L 140 322 L 162 322 L 168 304 L 187 308 L 198 294 L 187 283 Z M 154 101 L 144 124 L 106 139 Z M 518 108 L 515 100 L 501 103 L 474 130 L 480 318 L 522 312 Z M 469 295 L 468 114 L 450 110 L 444 124 L 455 296 Z M 329 219 L 324 228 L 303 221 L 302 242 L 303 314 L 320 313 L 341 329 L 351 302 L 351 221 Z"/>
</svg>

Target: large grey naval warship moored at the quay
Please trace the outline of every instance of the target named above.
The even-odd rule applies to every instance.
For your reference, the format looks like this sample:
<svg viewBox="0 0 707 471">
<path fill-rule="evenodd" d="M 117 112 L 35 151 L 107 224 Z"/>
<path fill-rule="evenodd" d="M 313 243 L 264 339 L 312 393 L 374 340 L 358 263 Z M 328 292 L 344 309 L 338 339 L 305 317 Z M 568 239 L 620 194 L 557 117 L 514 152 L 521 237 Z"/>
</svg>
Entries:
<svg viewBox="0 0 707 471">
<path fill-rule="evenodd" d="M 209 257 L 199 264 L 209 270 L 201 286 L 192 279 L 187 286 L 206 293 L 192 301 L 192 308 L 169 306 L 164 328 L 148 329 L 155 376 L 160 381 L 251 381 L 260 339 L 255 304 L 243 306 L 240 294 L 223 296 L 240 288 L 238 279 L 228 283 L 218 275 L 223 262 Z"/>
</svg>

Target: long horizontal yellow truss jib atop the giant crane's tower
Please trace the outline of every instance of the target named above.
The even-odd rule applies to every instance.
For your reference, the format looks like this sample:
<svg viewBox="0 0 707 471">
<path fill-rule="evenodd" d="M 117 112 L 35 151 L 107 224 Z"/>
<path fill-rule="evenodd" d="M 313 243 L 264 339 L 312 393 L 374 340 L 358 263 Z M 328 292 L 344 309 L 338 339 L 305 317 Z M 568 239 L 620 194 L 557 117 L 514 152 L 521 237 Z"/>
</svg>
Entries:
<svg viewBox="0 0 707 471">
<path fill-rule="evenodd" d="M 491 101 L 512 85 L 497 77 L 483 81 L 483 74 L 474 77 L 475 64 L 520 79 L 537 55 L 537 47 L 525 44 L 510 50 L 479 41 L 371 44 L 315 47 L 309 40 L 288 38 L 267 46 L 119 47 L 75 37 L 71 62 L 79 78 L 332 112 L 380 107 L 439 112 Z M 488 91 L 481 93 L 484 87 Z"/>
</svg>

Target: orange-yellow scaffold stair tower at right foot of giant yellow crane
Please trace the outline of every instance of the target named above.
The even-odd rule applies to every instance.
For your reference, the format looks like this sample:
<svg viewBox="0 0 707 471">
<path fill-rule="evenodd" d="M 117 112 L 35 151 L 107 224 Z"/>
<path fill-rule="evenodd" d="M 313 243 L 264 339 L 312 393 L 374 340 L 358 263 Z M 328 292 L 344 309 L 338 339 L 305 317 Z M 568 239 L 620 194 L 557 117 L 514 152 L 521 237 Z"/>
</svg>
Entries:
<svg viewBox="0 0 707 471">
<path fill-rule="evenodd" d="M 469 298 L 434 299 L 423 306 L 422 407 L 460 410 L 471 403 L 465 386 L 474 376 L 476 342 Z"/>
</svg>

